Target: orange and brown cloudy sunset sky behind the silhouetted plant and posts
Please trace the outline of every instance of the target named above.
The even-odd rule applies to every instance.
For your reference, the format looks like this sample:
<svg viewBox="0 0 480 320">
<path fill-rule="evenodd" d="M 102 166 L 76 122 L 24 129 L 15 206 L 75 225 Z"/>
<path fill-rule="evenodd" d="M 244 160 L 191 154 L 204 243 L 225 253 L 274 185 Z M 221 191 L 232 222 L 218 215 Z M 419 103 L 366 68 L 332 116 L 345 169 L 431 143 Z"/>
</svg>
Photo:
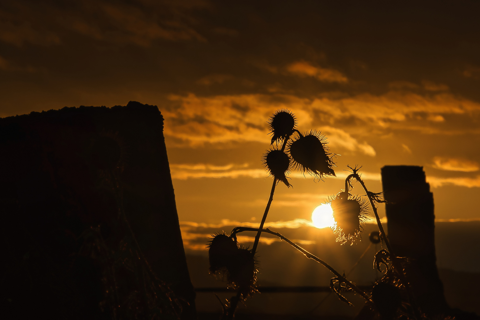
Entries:
<svg viewBox="0 0 480 320">
<path fill-rule="evenodd" d="M 423 166 L 437 219 L 480 220 L 479 12 L 478 1 L 2 0 L 0 117 L 156 105 L 180 221 L 222 228 L 261 219 L 267 120 L 287 108 L 341 156 L 336 178 L 280 183 L 270 225 L 305 225 L 346 165 L 363 166 L 374 192 L 382 166 Z"/>
</svg>

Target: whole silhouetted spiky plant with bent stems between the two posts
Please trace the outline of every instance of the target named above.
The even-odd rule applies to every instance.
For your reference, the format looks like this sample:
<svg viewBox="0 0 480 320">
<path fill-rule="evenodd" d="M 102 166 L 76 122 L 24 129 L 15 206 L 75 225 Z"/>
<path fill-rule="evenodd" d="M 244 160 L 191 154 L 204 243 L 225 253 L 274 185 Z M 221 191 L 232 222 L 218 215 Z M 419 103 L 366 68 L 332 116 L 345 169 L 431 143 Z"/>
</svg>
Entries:
<svg viewBox="0 0 480 320">
<path fill-rule="evenodd" d="M 255 253 L 262 232 L 264 232 L 286 241 L 308 259 L 322 264 L 331 271 L 334 274 L 330 280 L 331 290 L 347 304 L 351 305 L 343 292 L 353 291 L 362 296 L 367 305 L 376 310 L 383 320 L 391 320 L 399 315 L 406 319 L 420 320 L 420 311 L 415 306 L 404 274 L 404 265 L 408 263 L 408 259 L 397 257 L 392 251 L 376 207 L 377 203 L 385 201 L 382 199 L 382 193 L 374 193 L 367 189 L 359 174 L 361 167 L 348 166 L 350 174 L 345 179 L 345 189 L 330 197 L 328 203 L 332 207 L 335 219 L 335 225 L 331 228 L 337 236 L 336 241 L 342 245 L 361 241 L 362 224 L 365 223 L 370 211 L 375 216 L 378 231 L 373 231 L 369 235 L 369 239 L 372 243 L 382 243 L 382 246 L 385 247 L 376 253 L 373 261 L 374 268 L 384 275 L 375 283 L 371 292 L 362 291 L 347 279 L 345 273 L 338 273 L 328 263 L 293 243 L 287 237 L 270 228 L 264 228 L 276 186 L 280 181 L 289 188 L 291 184 L 288 181 L 288 174 L 292 170 L 308 173 L 317 182 L 324 181 L 325 177 L 335 176 L 333 160 L 336 157 L 336 154 L 329 152 L 327 139 L 321 132 L 310 130 L 302 134 L 297 129 L 295 115 L 289 110 L 276 111 L 268 120 L 268 124 L 272 147 L 263 155 L 262 160 L 265 169 L 273 178 L 273 183 L 260 225 L 258 228 L 235 227 L 230 235 L 223 232 L 213 235 L 207 246 L 210 273 L 226 278 L 228 285 L 238 290 L 237 295 L 229 299 L 227 304 L 219 299 L 224 310 L 221 319 L 233 319 L 238 303 L 256 291 L 257 261 Z M 365 195 L 359 196 L 350 192 L 353 189 L 352 180 L 360 183 Z M 256 232 L 252 249 L 242 248 L 237 243 L 236 235 L 245 231 Z M 384 268 L 382 268 L 383 265 Z M 385 298 L 386 296 L 389 298 Z"/>
</svg>

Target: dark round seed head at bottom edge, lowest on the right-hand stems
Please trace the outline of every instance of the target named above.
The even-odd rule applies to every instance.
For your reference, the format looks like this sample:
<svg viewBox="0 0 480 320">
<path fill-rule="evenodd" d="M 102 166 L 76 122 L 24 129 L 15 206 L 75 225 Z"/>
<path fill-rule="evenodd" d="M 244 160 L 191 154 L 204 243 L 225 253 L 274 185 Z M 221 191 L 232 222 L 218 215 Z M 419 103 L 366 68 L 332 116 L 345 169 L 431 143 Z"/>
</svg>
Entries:
<svg viewBox="0 0 480 320">
<path fill-rule="evenodd" d="M 393 284 L 385 282 L 380 282 L 373 286 L 372 300 L 383 320 L 395 318 L 396 312 L 402 304 L 400 289 Z"/>
</svg>

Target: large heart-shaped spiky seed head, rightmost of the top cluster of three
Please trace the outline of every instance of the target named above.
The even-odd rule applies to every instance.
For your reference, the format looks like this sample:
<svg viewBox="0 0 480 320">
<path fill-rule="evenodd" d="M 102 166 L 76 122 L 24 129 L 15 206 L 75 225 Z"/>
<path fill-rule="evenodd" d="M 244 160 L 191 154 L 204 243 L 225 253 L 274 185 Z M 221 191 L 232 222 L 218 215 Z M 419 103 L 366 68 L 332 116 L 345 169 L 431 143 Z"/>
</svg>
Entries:
<svg viewBox="0 0 480 320">
<path fill-rule="evenodd" d="M 288 151 L 295 161 L 295 167 L 320 179 L 324 176 L 335 176 L 332 169 L 335 166 L 332 161 L 334 154 L 327 152 L 326 143 L 325 136 L 315 130 L 300 135 L 288 146 Z"/>
</svg>

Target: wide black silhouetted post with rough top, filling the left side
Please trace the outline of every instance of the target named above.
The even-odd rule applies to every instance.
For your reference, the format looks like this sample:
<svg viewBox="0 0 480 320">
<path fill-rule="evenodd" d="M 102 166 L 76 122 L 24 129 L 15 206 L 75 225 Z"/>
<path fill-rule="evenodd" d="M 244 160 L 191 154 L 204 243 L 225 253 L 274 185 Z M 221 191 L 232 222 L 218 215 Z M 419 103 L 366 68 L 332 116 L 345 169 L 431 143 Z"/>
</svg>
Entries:
<svg viewBox="0 0 480 320">
<path fill-rule="evenodd" d="M 196 319 L 156 106 L 3 118 L 0 153 L 5 319 Z"/>
</svg>

